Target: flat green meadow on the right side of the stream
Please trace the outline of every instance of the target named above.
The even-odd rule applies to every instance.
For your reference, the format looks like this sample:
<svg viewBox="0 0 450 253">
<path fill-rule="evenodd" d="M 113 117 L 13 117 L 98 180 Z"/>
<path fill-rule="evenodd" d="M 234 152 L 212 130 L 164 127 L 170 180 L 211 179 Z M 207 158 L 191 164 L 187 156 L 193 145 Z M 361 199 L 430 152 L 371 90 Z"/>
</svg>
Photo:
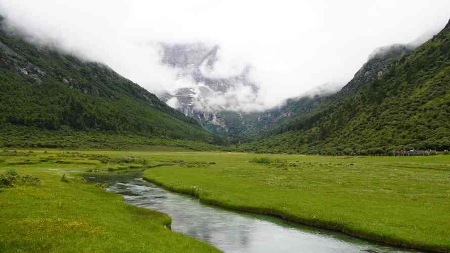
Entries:
<svg viewBox="0 0 450 253">
<path fill-rule="evenodd" d="M 225 208 L 450 252 L 450 156 L 160 154 L 144 177 Z M 214 162 L 215 164 L 210 164 Z"/>
</svg>

